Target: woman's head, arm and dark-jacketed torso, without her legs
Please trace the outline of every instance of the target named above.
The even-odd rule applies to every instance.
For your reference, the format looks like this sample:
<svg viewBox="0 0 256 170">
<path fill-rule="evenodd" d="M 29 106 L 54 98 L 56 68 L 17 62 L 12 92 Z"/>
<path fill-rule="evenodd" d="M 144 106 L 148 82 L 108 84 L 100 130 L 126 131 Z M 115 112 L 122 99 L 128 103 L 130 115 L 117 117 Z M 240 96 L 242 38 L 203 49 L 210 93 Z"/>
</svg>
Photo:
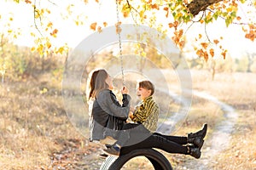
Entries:
<svg viewBox="0 0 256 170">
<path fill-rule="evenodd" d="M 120 105 L 112 92 L 113 83 L 105 70 L 94 71 L 90 77 L 89 100 L 94 100 L 90 119 L 90 141 L 105 143 L 115 142 L 119 129 L 125 123 L 131 97 L 126 87 L 122 88 L 123 95 Z"/>
</svg>

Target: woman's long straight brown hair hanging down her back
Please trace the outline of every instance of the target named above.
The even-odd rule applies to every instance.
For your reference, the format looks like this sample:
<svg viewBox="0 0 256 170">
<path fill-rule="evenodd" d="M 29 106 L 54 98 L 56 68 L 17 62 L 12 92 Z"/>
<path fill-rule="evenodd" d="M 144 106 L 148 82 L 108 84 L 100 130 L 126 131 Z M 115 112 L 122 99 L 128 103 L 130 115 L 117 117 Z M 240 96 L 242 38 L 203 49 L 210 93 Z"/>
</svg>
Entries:
<svg viewBox="0 0 256 170">
<path fill-rule="evenodd" d="M 109 88 L 109 85 L 106 82 L 107 78 L 108 72 L 103 69 L 92 72 L 88 99 L 95 99 L 101 90 Z"/>
</svg>

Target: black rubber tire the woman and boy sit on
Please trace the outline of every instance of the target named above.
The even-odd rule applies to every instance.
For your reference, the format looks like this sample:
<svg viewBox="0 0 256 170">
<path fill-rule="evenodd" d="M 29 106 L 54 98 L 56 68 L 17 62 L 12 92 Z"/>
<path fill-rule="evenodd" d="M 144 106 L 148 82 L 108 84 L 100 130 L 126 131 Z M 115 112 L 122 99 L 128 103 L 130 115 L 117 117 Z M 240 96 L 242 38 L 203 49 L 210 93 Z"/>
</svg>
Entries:
<svg viewBox="0 0 256 170">
<path fill-rule="evenodd" d="M 133 150 L 128 154 L 114 158 L 113 156 L 108 156 L 103 162 L 101 169 L 119 170 L 127 161 L 137 156 L 147 157 L 156 170 L 172 170 L 172 166 L 166 157 L 154 149 Z"/>
</svg>

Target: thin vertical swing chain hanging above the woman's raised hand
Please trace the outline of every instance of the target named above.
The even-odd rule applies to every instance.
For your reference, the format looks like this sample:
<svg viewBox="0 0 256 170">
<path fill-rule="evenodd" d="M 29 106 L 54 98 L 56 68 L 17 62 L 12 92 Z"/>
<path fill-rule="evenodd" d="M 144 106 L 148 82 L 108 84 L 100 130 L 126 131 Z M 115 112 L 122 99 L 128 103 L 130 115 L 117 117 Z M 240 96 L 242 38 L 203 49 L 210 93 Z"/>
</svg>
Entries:
<svg viewBox="0 0 256 170">
<path fill-rule="evenodd" d="M 120 55 L 120 63 L 121 63 L 121 73 L 122 73 L 122 82 L 123 86 L 125 86 L 125 75 L 124 75 L 124 65 L 123 65 L 123 50 L 122 50 L 122 42 L 121 42 L 121 28 L 120 28 L 120 19 L 119 19 L 119 0 L 116 0 L 116 16 L 117 16 L 117 33 L 119 35 L 119 55 Z"/>
</svg>

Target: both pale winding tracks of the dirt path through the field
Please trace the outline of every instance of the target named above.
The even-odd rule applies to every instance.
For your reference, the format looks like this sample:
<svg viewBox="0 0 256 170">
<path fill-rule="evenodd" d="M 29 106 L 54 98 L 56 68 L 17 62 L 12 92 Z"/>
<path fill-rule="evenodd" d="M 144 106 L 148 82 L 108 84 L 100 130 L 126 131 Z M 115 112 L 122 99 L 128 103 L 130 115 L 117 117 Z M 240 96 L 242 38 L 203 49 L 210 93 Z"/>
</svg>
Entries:
<svg viewBox="0 0 256 170">
<path fill-rule="evenodd" d="M 161 93 L 164 92 L 162 89 L 158 90 L 160 90 Z M 164 93 L 167 94 L 168 92 Z M 177 94 L 171 94 L 170 92 L 168 94 L 172 99 L 180 103 L 184 109 L 175 113 L 173 116 L 168 117 L 167 120 L 160 125 L 158 132 L 167 134 L 172 133 L 175 130 L 176 122 L 182 121 L 187 116 L 186 111 L 190 106 L 189 99 L 180 98 Z M 207 147 L 202 148 L 203 154 L 201 159 L 186 162 L 182 169 L 210 169 L 212 163 L 214 163 L 214 156 L 218 156 L 218 153 L 222 152 L 229 145 L 231 133 L 234 130 L 234 125 L 237 120 L 237 113 L 233 107 L 224 104 L 210 94 L 193 90 L 193 95 L 218 105 L 218 107 L 224 111 L 224 117 L 222 122 L 219 122 L 215 126 L 212 135 L 207 138 L 207 141 L 205 142 Z"/>
</svg>

